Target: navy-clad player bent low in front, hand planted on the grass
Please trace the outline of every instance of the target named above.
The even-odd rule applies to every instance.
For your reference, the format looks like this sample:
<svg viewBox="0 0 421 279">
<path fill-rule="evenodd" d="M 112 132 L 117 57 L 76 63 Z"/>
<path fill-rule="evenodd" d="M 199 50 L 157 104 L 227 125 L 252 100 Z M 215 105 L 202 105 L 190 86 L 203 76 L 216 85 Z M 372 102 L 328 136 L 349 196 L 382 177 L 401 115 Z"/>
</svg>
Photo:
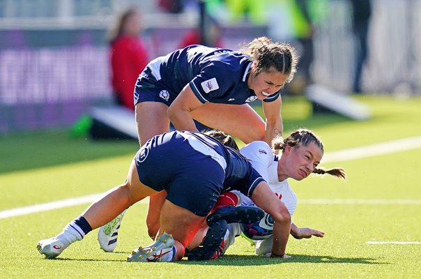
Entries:
<svg viewBox="0 0 421 279">
<path fill-rule="evenodd" d="M 160 211 L 158 237 L 152 245 L 135 249 L 128 262 L 181 259 L 225 190 L 239 190 L 273 216 L 273 257 L 284 256 L 291 219 L 268 183 L 238 151 L 208 135 L 187 131 L 164 133 L 148 140 L 132 160 L 125 182 L 93 202 L 63 232 L 39 241 L 38 251 L 53 259 L 132 204 L 164 190 L 167 197 Z"/>
</svg>

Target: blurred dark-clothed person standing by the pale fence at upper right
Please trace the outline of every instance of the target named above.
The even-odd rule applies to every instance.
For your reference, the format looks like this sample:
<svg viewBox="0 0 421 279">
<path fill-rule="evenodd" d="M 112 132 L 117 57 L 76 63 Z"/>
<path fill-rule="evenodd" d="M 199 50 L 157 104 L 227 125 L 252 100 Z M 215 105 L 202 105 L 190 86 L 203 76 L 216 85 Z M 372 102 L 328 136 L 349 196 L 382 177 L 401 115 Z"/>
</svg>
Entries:
<svg viewBox="0 0 421 279">
<path fill-rule="evenodd" d="M 372 3 L 370 0 L 351 0 L 351 4 L 353 8 L 353 32 L 357 50 L 353 91 L 361 93 L 361 74 L 368 54 L 367 35 L 369 20 L 372 16 Z"/>
</svg>

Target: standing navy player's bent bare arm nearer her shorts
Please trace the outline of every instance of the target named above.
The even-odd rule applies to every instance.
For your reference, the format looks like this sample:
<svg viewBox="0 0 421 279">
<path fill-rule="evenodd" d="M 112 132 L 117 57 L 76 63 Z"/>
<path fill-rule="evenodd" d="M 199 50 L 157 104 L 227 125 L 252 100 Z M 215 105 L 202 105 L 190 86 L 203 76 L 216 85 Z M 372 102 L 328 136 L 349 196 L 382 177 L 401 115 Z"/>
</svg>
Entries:
<svg viewBox="0 0 421 279">
<path fill-rule="evenodd" d="M 190 112 L 202 105 L 203 103 L 194 95 L 190 85 L 187 84 L 169 106 L 167 115 L 177 130 L 198 132 Z"/>
</svg>

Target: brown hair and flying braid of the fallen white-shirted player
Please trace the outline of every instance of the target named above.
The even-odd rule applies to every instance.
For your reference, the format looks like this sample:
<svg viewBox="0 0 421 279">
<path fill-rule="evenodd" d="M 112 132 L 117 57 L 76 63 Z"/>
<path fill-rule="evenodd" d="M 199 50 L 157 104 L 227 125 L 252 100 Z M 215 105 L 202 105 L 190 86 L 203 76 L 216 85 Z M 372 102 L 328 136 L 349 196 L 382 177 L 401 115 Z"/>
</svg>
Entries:
<svg viewBox="0 0 421 279">
<path fill-rule="evenodd" d="M 282 138 L 281 136 L 276 137 L 272 142 L 272 148 L 275 149 L 275 151 L 284 151 L 285 147 L 287 145 L 291 147 L 298 147 L 300 145 L 308 146 L 310 143 L 316 144 L 316 146 L 319 146 L 321 149 L 321 152 L 324 152 L 323 143 L 317 137 L 314 135 L 314 133 L 311 130 L 307 129 L 298 129 L 295 132 L 293 132 L 289 137 L 286 139 Z M 332 176 L 336 176 L 341 179 L 346 178 L 346 173 L 344 169 L 340 167 L 334 167 L 332 169 L 322 169 L 322 168 L 314 168 L 313 169 L 314 174 L 330 174 Z"/>
</svg>

